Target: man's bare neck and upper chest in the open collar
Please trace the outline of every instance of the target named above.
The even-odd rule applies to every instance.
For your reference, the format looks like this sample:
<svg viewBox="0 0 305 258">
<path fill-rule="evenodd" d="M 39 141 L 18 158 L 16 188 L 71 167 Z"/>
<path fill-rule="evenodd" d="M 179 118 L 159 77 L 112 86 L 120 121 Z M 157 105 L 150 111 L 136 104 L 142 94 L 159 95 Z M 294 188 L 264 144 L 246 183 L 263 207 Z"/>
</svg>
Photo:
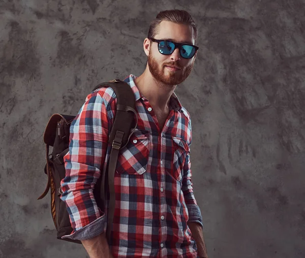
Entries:
<svg viewBox="0 0 305 258">
<path fill-rule="evenodd" d="M 166 110 L 169 108 L 170 96 L 177 85 L 168 85 L 157 81 L 151 75 L 148 64 L 143 74 L 135 79 L 140 93 L 146 98 L 154 109 Z"/>
</svg>

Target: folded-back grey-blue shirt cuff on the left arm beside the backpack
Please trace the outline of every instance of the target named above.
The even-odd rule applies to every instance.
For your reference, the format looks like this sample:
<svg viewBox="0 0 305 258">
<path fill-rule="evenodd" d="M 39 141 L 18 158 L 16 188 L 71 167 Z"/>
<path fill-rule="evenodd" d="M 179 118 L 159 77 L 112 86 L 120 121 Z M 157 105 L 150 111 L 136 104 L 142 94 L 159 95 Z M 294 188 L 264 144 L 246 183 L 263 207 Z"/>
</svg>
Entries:
<svg viewBox="0 0 305 258">
<path fill-rule="evenodd" d="M 70 238 L 72 240 L 87 240 L 94 238 L 104 232 L 106 232 L 107 221 L 106 215 L 97 218 L 95 221 L 85 225 L 80 230 L 75 231 L 71 235 L 62 236 L 64 238 Z"/>
</svg>

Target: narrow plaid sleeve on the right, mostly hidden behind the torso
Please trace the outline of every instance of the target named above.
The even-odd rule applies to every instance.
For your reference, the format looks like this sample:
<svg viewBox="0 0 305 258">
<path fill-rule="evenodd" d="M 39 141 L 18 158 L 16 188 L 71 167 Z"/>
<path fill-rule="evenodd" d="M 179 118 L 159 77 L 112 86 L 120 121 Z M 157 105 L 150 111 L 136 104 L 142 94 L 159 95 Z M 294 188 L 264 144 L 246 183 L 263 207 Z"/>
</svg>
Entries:
<svg viewBox="0 0 305 258">
<path fill-rule="evenodd" d="M 192 143 L 192 127 L 191 119 L 189 120 L 188 125 L 189 130 L 189 146 Z M 192 183 L 192 170 L 191 170 L 191 160 L 190 160 L 190 151 L 187 153 L 184 168 L 183 168 L 183 179 L 182 179 L 182 192 L 184 194 L 184 199 L 189 212 L 188 222 L 197 222 L 203 227 L 202 216 L 199 206 L 197 205 L 194 192 L 193 192 L 193 183 Z"/>
</svg>

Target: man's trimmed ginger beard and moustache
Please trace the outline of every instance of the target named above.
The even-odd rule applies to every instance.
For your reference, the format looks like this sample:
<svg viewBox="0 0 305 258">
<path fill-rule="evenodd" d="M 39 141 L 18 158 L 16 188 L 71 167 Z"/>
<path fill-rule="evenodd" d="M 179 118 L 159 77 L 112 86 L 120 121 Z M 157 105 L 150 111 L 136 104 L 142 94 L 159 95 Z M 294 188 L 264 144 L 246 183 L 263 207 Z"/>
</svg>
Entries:
<svg viewBox="0 0 305 258">
<path fill-rule="evenodd" d="M 165 66 L 175 66 L 180 68 L 181 70 L 177 71 L 169 71 L 168 74 L 165 73 L 164 69 Z M 148 68 L 153 75 L 153 77 L 157 80 L 160 81 L 161 83 L 167 84 L 167 85 L 177 85 L 180 84 L 181 82 L 184 82 L 189 75 L 192 72 L 194 66 L 194 60 L 192 61 L 189 66 L 182 68 L 178 62 L 167 62 L 162 65 L 162 67 L 159 67 L 159 63 L 157 60 L 151 55 L 151 52 L 148 54 Z"/>
</svg>

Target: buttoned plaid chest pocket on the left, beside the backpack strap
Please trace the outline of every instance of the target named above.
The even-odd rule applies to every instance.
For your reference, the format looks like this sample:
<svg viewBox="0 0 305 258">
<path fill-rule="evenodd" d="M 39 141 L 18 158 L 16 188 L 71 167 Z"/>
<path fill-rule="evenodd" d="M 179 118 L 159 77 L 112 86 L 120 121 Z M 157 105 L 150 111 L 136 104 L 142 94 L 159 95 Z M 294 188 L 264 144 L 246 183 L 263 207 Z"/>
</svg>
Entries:
<svg viewBox="0 0 305 258">
<path fill-rule="evenodd" d="M 136 131 L 128 144 L 120 150 L 116 164 L 118 174 L 143 174 L 149 156 L 149 133 Z"/>
</svg>

